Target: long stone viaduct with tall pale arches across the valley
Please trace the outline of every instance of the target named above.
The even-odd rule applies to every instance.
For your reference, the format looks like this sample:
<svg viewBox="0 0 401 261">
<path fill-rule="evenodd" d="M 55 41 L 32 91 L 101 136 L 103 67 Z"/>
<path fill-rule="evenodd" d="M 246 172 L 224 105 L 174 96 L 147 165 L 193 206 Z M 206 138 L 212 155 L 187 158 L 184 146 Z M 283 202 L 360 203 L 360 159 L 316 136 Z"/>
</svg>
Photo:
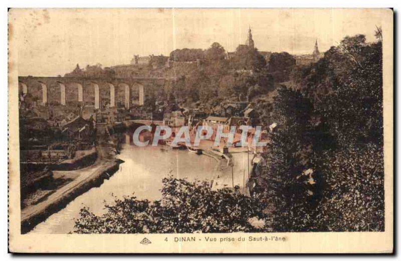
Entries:
<svg viewBox="0 0 401 261">
<path fill-rule="evenodd" d="M 145 102 L 147 89 L 162 88 L 167 78 L 94 78 L 19 76 L 20 94 L 31 93 L 42 105 L 68 105 L 79 102 L 95 109 L 124 106 L 130 108 L 135 99 Z"/>
</svg>

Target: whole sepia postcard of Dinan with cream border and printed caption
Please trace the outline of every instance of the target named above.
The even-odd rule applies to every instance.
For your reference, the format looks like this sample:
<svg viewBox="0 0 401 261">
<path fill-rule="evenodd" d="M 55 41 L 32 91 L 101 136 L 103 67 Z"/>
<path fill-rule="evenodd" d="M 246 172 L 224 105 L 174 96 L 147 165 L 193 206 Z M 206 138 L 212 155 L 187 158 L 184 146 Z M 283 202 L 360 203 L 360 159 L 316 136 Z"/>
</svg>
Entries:
<svg viewBox="0 0 401 261">
<path fill-rule="evenodd" d="M 388 253 L 391 9 L 10 9 L 9 249 Z"/>
</svg>

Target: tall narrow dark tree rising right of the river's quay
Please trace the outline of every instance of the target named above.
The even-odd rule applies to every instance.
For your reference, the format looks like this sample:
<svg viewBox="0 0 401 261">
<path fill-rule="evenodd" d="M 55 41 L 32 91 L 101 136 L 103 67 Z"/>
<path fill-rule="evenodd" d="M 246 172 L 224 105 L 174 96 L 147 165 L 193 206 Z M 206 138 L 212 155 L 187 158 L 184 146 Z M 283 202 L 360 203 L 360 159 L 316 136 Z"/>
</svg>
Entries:
<svg viewBox="0 0 401 261">
<path fill-rule="evenodd" d="M 310 165 L 313 106 L 298 90 L 285 86 L 274 98 L 273 122 L 260 198 L 273 215 L 275 231 L 305 231 L 313 223 L 315 186 Z"/>
</svg>

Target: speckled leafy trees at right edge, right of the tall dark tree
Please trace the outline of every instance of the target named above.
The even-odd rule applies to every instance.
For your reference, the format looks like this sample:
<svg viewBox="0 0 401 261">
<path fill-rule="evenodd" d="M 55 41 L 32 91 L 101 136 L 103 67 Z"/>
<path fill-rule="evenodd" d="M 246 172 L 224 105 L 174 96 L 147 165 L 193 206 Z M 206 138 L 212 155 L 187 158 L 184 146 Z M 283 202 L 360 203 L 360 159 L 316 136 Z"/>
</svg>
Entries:
<svg viewBox="0 0 401 261">
<path fill-rule="evenodd" d="M 337 84 L 316 101 L 320 124 L 335 141 L 316 159 L 324 188 L 319 229 L 383 231 L 381 41 L 367 44 L 364 36 L 346 37 L 327 59 L 340 61 L 343 68 L 334 67 Z"/>
</svg>

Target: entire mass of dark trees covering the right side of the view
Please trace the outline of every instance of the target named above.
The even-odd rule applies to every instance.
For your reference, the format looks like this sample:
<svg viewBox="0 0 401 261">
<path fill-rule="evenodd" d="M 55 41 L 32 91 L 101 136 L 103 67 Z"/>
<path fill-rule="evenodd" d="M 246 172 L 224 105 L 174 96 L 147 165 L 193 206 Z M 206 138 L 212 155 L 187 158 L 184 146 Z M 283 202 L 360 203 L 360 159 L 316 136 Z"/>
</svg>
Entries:
<svg viewBox="0 0 401 261">
<path fill-rule="evenodd" d="M 274 230 L 384 230 L 381 55 L 346 37 L 278 90 L 258 177 Z"/>
</svg>

